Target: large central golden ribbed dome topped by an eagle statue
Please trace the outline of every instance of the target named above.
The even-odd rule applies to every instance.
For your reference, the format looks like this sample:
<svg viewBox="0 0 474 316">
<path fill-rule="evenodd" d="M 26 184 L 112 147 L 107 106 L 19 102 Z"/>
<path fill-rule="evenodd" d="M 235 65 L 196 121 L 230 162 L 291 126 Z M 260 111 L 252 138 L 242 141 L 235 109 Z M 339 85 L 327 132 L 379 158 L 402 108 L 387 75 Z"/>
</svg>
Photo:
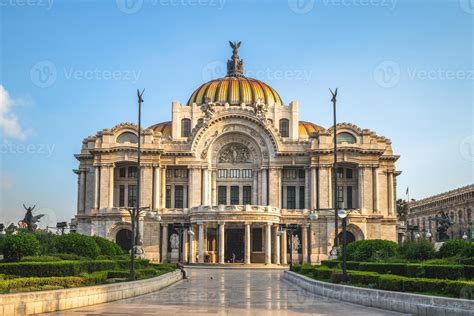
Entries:
<svg viewBox="0 0 474 316">
<path fill-rule="evenodd" d="M 238 55 L 240 42 L 229 42 L 232 57 L 227 61 L 227 76 L 206 82 L 196 89 L 187 105 L 216 102 L 221 105 L 253 105 L 261 100 L 269 106 L 283 105 L 280 95 L 260 80 L 244 76 L 244 61 Z"/>
</svg>

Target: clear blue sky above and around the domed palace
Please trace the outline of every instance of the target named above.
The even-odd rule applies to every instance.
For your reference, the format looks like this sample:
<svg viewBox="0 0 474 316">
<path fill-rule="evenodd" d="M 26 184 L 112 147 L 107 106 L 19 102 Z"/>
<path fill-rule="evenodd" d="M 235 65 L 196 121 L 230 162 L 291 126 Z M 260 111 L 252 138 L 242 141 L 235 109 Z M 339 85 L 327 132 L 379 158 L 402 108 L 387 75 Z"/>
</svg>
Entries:
<svg viewBox="0 0 474 316">
<path fill-rule="evenodd" d="M 76 210 L 81 141 L 134 121 L 169 120 L 223 74 L 242 41 L 249 76 L 300 102 L 301 120 L 339 121 L 393 142 L 398 195 L 474 179 L 472 0 L 0 0 L 0 222 L 22 204 L 47 220 Z"/>
</svg>

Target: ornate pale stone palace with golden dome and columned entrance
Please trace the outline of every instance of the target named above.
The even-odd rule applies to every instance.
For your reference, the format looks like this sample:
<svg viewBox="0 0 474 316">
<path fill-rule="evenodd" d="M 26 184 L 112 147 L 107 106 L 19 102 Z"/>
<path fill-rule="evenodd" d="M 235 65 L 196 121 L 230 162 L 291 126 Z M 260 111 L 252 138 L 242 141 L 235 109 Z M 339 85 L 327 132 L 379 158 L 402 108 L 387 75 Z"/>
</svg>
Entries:
<svg viewBox="0 0 474 316">
<path fill-rule="evenodd" d="M 140 216 L 144 255 L 189 263 L 317 263 L 341 238 L 341 228 L 338 236 L 334 229 L 334 127 L 301 121 L 297 101 L 284 103 L 268 84 L 245 77 L 240 43 L 231 46 L 227 76 L 198 87 L 186 104 L 172 102 L 171 121 L 141 131 L 140 206 L 160 215 Z M 350 210 L 348 241 L 396 241 L 399 156 L 371 130 L 349 123 L 336 130 L 336 191 Z M 127 207 L 137 203 L 137 132 L 131 123 L 103 129 L 75 155 L 77 232 L 124 249 L 131 243 Z M 319 216 L 310 219 L 314 211 Z M 296 228 L 287 234 L 285 224 Z"/>
</svg>

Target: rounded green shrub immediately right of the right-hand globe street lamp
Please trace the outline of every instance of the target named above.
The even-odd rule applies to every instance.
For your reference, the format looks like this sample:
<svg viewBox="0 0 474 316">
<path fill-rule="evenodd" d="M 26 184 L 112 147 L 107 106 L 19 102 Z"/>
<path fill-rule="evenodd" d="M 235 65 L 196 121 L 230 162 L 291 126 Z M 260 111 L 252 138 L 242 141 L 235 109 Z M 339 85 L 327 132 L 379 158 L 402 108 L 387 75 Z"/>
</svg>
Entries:
<svg viewBox="0 0 474 316">
<path fill-rule="evenodd" d="M 381 239 L 357 240 L 350 243 L 346 250 L 348 260 L 379 261 L 394 257 L 397 243 Z"/>
</svg>

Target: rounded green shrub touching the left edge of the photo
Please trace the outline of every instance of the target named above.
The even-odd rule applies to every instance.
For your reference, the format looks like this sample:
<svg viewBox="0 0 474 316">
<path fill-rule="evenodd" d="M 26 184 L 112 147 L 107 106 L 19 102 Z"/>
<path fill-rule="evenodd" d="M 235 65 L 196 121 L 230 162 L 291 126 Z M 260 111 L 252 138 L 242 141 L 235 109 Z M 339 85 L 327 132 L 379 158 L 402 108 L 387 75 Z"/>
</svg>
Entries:
<svg viewBox="0 0 474 316">
<path fill-rule="evenodd" d="M 20 261 L 24 256 L 40 254 L 39 241 L 29 233 L 18 233 L 5 237 L 3 255 L 5 261 Z"/>
</svg>

